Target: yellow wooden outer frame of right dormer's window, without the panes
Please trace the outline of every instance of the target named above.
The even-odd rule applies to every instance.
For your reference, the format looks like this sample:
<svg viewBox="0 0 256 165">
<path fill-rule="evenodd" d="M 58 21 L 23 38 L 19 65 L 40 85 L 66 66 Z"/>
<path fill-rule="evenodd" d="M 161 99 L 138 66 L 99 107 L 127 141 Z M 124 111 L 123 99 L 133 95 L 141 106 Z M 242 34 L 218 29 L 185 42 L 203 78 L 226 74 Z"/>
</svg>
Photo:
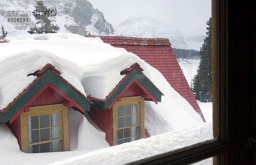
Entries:
<svg viewBox="0 0 256 165">
<path fill-rule="evenodd" d="M 139 104 L 140 139 L 145 137 L 144 98 L 141 96 L 121 98 L 113 105 L 113 145 L 117 145 L 117 106 Z"/>
</svg>

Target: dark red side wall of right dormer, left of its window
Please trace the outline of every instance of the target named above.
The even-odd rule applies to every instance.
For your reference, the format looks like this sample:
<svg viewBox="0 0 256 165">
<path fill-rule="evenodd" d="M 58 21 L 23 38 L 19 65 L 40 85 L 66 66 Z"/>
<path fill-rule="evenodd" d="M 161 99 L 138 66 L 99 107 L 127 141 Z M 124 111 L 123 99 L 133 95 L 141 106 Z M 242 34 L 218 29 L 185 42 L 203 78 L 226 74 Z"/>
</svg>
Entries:
<svg viewBox="0 0 256 165">
<path fill-rule="evenodd" d="M 87 112 L 94 123 L 99 126 L 102 131 L 106 133 L 106 140 L 110 146 L 113 146 L 113 120 L 112 120 L 112 108 L 111 109 L 99 109 L 90 108 Z"/>
</svg>

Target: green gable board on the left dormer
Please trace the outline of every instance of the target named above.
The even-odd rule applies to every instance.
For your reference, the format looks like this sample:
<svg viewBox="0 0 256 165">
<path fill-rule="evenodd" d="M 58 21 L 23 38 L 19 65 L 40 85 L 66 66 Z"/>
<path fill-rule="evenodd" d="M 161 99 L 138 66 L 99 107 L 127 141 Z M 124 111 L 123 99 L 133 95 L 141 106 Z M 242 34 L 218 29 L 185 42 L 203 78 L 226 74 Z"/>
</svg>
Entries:
<svg viewBox="0 0 256 165">
<path fill-rule="evenodd" d="M 9 121 L 26 103 L 32 99 L 47 83 L 52 83 L 68 95 L 71 99 L 76 101 L 80 106 L 82 106 L 87 111 L 90 111 L 90 101 L 84 98 L 79 92 L 70 87 L 63 79 L 58 77 L 52 70 L 48 70 L 35 84 L 30 87 L 9 109 L 4 113 L 0 113 L 0 121 Z"/>
</svg>

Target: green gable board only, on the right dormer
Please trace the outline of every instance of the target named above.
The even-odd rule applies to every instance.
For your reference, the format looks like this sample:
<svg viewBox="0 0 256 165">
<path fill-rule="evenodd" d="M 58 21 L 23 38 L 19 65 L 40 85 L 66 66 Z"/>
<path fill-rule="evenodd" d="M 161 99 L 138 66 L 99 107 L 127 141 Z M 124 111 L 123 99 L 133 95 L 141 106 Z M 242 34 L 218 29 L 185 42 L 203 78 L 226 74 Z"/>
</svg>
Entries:
<svg viewBox="0 0 256 165">
<path fill-rule="evenodd" d="M 100 108 L 100 109 L 108 109 L 108 107 L 115 101 L 118 95 L 125 89 L 125 87 L 134 79 L 136 78 L 140 84 L 142 84 L 156 99 L 158 102 L 161 102 L 161 92 L 154 87 L 150 81 L 139 71 L 135 68 L 132 73 L 122 82 L 122 84 L 116 89 L 116 91 L 108 98 L 106 102 L 102 101 L 93 101 L 91 107 Z"/>
</svg>

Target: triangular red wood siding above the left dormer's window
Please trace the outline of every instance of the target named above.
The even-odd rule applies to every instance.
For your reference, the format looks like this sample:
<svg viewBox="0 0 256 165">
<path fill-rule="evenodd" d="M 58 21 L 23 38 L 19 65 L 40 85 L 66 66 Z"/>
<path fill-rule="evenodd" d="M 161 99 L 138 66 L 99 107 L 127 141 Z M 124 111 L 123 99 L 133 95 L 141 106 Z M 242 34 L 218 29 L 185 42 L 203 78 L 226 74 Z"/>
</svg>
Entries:
<svg viewBox="0 0 256 165">
<path fill-rule="evenodd" d="M 30 106 L 44 106 L 51 104 L 63 103 L 65 98 L 63 98 L 58 92 L 53 90 L 51 87 L 47 87 L 38 98 L 33 101 Z"/>
</svg>

